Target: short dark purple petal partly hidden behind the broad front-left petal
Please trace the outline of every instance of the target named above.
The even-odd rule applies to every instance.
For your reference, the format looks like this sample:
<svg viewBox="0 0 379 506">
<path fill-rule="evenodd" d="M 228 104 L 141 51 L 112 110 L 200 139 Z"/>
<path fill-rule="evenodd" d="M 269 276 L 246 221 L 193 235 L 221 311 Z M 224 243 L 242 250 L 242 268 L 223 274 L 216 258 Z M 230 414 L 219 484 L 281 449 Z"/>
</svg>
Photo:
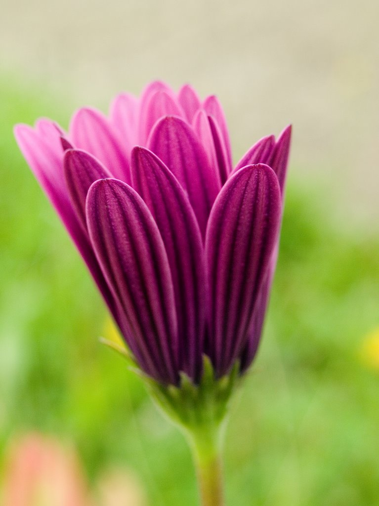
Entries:
<svg viewBox="0 0 379 506">
<path fill-rule="evenodd" d="M 86 197 L 92 183 L 111 174 L 96 158 L 81 149 L 70 149 L 63 158 L 64 175 L 72 205 L 87 231 Z"/>
</svg>

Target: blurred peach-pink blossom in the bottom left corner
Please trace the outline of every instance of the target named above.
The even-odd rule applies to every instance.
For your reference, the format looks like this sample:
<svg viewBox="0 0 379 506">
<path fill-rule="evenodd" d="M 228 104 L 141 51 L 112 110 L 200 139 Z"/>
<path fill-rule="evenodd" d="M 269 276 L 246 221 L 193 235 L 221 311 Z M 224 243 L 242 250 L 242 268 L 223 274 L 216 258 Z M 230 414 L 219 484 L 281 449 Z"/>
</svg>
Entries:
<svg viewBox="0 0 379 506">
<path fill-rule="evenodd" d="M 59 440 L 27 433 L 10 442 L 3 473 L 3 506 L 143 506 L 145 493 L 127 469 L 100 474 L 95 500 L 79 456 Z"/>
</svg>

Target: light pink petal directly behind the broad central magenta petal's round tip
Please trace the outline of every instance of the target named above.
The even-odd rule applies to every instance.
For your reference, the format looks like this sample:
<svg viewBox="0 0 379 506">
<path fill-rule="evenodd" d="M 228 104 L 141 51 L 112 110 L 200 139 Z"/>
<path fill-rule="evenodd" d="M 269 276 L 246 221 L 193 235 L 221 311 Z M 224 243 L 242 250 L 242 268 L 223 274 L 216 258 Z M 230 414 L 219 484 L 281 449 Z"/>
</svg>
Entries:
<svg viewBox="0 0 379 506">
<path fill-rule="evenodd" d="M 142 144 L 146 144 L 149 134 L 158 119 L 167 115 L 184 117 L 184 112 L 179 104 L 175 102 L 174 98 L 165 91 L 159 91 L 151 95 L 144 115 L 141 112 L 140 116 Z"/>
</svg>

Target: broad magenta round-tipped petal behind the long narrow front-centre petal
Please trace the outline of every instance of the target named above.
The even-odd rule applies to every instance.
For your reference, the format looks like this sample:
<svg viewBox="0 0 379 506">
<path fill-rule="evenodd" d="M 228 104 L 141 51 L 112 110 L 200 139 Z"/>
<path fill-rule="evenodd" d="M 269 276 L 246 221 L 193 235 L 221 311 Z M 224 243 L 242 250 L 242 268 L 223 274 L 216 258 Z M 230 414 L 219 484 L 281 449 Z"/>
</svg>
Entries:
<svg viewBox="0 0 379 506">
<path fill-rule="evenodd" d="M 166 116 L 155 125 L 148 147 L 187 191 L 204 236 L 220 184 L 194 131 L 183 119 Z"/>
</svg>

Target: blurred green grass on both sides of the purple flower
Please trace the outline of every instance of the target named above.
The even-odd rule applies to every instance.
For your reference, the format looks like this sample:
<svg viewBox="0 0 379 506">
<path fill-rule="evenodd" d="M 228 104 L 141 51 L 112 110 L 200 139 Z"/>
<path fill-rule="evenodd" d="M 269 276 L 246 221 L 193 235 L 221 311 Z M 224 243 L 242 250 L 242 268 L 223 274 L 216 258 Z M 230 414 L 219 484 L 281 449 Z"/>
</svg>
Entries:
<svg viewBox="0 0 379 506">
<path fill-rule="evenodd" d="M 0 449 L 37 429 L 74 441 L 91 480 L 121 463 L 150 504 L 195 504 L 184 439 L 99 344 L 102 301 L 13 139 L 40 115 L 67 125 L 69 104 L 16 79 L 0 94 Z M 332 224 L 322 184 L 289 177 L 265 335 L 227 433 L 228 504 L 379 502 L 379 371 L 360 353 L 379 324 L 379 240 Z"/>
</svg>

